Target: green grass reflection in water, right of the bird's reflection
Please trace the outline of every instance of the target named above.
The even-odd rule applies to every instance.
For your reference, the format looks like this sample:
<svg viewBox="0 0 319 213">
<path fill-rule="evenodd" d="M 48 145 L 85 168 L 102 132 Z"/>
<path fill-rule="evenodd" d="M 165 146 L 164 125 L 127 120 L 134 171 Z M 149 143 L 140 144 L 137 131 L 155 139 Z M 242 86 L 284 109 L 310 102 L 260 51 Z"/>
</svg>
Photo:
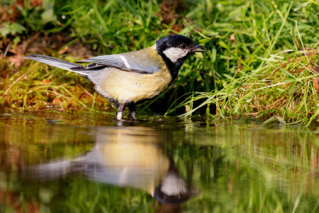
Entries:
<svg viewBox="0 0 319 213">
<path fill-rule="evenodd" d="M 191 171 L 194 185 L 203 190 L 186 209 L 318 212 L 318 136 L 252 127 L 218 124 L 210 130 L 189 129 L 186 137 L 192 146 L 182 143 L 183 133 L 179 135 L 181 143 L 173 150 L 180 171 Z"/>
</svg>

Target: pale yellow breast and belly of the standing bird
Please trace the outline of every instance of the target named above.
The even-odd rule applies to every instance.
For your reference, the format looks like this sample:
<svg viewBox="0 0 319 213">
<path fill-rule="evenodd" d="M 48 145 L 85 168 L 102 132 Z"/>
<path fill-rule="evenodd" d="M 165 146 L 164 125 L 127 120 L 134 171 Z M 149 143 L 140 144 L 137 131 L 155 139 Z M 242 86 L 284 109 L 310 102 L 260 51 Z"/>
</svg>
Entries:
<svg viewBox="0 0 319 213">
<path fill-rule="evenodd" d="M 154 48 L 155 46 L 152 46 L 143 50 L 145 53 L 143 52 L 142 55 L 147 55 L 147 60 L 157 61 L 162 67 L 159 71 L 154 74 L 142 75 L 110 68 L 103 77 L 103 84 L 100 87 L 101 93 L 103 92 L 102 94 L 108 98 L 117 100 L 119 104 L 124 104 L 125 102 L 136 103 L 143 99 L 152 99 L 167 89 L 169 82 L 172 81 L 172 76 L 169 74 L 167 65 L 164 64 Z M 135 62 L 147 65 L 147 60 L 143 58 L 136 58 Z"/>
</svg>

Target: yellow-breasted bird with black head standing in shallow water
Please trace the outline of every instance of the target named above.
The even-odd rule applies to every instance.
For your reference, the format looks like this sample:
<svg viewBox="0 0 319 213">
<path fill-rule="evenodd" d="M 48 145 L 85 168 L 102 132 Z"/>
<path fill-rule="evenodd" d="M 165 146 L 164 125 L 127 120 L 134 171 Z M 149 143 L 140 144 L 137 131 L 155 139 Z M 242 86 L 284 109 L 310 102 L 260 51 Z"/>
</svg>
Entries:
<svg viewBox="0 0 319 213">
<path fill-rule="evenodd" d="M 185 60 L 195 52 L 205 52 L 184 35 L 168 35 L 149 48 L 128 53 L 101 55 L 77 63 L 30 54 L 24 58 L 76 72 L 95 84 L 95 89 L 116 107 L 116 119 L 123 120 L 128 107 L 128 118 L 136 118 L 136 106 L 144 104 L 164 92 L 177 79 Z"/>
</svg>

